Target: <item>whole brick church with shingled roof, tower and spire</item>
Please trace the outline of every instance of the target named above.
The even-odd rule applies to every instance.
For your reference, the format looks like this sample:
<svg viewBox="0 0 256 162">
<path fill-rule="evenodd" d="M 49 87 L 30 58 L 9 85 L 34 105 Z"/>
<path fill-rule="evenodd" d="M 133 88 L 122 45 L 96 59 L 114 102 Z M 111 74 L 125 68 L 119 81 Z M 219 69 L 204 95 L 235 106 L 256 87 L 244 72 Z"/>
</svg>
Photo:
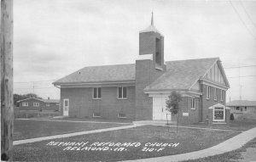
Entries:
<svg viewBox="0 0 256 162">
<path fill-rule="evenodd" d="M 170 53 L 168 53 L 170 54 Z M 166 120 L 166 99 L 182 94 L 182 123 L 227 123 L 230 88 L 218 58 L 165 61 L 164 36 L 151 25 L 139 32 L 135 64 L 90 66 L 55 81 L 64 116 Z"/>
</svg>

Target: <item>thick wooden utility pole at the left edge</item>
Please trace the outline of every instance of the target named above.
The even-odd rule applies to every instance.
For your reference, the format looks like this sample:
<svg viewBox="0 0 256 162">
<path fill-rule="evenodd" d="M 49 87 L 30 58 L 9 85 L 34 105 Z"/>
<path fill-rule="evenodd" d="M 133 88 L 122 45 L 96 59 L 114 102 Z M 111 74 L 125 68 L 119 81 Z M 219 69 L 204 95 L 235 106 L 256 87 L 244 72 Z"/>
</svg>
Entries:
<svg viewBox="0 0 256 162">
<path fill-rule="evenodd" d="M 1 0 L 1 159 L 13 160 L 13 0 Z"/>
</svg>

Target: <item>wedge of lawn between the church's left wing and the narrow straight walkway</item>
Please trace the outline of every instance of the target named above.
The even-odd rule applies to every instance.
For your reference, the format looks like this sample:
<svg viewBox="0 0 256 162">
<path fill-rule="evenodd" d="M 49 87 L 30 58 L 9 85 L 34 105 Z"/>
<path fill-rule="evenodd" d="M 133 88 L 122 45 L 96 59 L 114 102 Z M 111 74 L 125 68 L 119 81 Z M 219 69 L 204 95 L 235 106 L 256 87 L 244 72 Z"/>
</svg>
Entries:
<svg viewBox="0 0 256 162">
<path fill-rule="evenodd" d="M 46 137 L 77 131 L 90 131 L 102 128 L 128 126 L 116 123 L 87 123 L 49 120 L 15 120 L 14 139 Z M 131 124 L 130 124 L 131 125 Z"/>
</svg>

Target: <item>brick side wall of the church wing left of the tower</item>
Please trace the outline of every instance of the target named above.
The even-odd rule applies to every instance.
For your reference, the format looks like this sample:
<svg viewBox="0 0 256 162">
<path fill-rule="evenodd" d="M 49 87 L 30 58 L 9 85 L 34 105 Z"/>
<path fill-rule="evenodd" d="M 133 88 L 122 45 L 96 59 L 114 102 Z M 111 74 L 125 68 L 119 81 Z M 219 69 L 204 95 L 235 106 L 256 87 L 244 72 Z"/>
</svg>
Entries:
<svg viewBox="0 0 256 162">
<path fill-rule="evenodd" d="M 69 99 L 69 116 L 100 113 L 102 118 L 116 119 L 122 113 L 127 119 L 135 118 L 135 87 L 127 87 L 127 99 L 117 98 L 117 87 L 102 87 L 102 99 L 92 98 L 92 87 L 61 88 L 61 114 L 64 98 Z"/>
</svg>

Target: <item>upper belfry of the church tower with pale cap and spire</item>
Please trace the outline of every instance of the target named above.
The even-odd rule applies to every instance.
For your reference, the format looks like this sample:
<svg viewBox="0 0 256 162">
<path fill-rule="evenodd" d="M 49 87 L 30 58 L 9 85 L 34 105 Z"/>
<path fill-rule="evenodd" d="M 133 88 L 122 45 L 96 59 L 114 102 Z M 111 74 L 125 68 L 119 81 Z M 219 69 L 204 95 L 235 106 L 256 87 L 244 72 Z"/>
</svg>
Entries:
<svg viewBox="0 0 256 162">
<path fill-rule="evenodd" d="M 139 55 L 152 54 L 154 67 L 164 69 L 164 36 L 154 27 L 154 17 L 152 12 L 151 25 L 139 36 Z"/>
</svg>

